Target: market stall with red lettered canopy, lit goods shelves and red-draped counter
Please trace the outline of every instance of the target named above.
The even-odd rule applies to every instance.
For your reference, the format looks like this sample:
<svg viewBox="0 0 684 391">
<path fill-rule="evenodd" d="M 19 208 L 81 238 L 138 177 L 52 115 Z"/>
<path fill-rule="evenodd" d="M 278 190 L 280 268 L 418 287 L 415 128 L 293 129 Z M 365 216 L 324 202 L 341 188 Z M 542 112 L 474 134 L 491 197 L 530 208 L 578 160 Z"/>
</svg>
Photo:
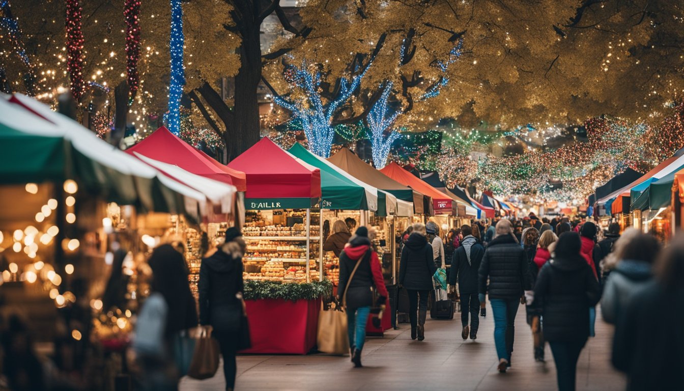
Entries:
<svg viewBox="0 0 684 391">
<path fill-rule="evenodd" d="M 268 157 L 268 158 L 265 158 Z M 229 168 L 246 174 L 244 279 L 254 290 L 315 290 L 319 268 L 321 171 L 263 138 Z M 299 283 L 302 286 L 291 286 Z M 270 289 L 266 289 L 271 287 Z M 248 297 L 252 348 L 246 353 L 306 354 L 315 345 L 317 296 Z"/>
</svg>

